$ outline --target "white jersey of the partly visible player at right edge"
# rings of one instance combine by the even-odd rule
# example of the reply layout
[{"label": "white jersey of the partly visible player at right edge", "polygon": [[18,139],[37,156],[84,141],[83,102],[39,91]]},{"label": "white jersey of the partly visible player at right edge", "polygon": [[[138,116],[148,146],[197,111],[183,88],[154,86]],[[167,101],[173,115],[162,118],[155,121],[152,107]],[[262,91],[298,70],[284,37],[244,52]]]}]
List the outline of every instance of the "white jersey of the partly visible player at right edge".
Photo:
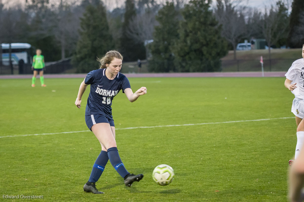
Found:
[{"label": "white jersey of the partly visible player at right edge", "polygon": [[298,59],[292,63],[288,72],[285,74],[286,78],[297,83],[293,91],[291,91],[296,98],[304,99],[304,59]]}]

